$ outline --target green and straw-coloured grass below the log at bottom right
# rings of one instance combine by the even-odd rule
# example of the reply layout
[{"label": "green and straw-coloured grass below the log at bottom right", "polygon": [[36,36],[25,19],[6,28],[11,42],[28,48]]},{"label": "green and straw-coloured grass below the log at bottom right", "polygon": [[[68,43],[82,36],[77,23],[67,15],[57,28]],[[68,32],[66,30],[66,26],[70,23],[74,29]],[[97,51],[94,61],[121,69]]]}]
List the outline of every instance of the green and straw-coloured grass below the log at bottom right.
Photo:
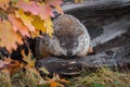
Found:
[{"label": "green and straw-coloured grass below the log at bottom right", "polygon": [[83,71],[69,80],[68,87],[130,87],[130,73],[101,67],[96,72]]}]

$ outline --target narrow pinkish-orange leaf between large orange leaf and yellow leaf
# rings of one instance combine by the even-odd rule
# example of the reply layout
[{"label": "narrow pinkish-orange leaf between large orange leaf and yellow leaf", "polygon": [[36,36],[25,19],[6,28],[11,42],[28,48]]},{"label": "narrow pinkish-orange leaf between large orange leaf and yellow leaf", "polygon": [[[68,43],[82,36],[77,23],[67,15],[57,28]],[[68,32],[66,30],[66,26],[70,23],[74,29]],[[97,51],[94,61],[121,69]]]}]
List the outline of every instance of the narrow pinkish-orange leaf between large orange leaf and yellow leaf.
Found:
[{"label": "narrow pinkish-orange leaf between large orange leaf and yellow leaf", "polygon": [[21,20],[18,20],[14,14],[9,14],[8,15],[9,21],[12,23],[13,29],[15,32],[20,32],[22,36],[29,36],[29,29],[22,23]]}]

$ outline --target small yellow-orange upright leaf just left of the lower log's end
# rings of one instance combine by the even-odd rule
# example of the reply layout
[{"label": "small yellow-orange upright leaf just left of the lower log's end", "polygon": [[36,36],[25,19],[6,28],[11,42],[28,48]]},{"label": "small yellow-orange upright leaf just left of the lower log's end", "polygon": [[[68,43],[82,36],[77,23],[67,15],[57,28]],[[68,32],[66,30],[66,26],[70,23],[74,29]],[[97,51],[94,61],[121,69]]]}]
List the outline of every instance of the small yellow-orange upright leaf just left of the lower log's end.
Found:
[{"label": "small yellow-orange upright leaf just left of the lower log's end", "polygon": [[35,67],[36,59],[32,59],[32,57],[31,57],[32,53],[30,52],[30,50],[29,50],[28,55],[26,55],[24,50],[22,50],[22,55],[23,55],[23,60],[28,63],[28,66]]}]

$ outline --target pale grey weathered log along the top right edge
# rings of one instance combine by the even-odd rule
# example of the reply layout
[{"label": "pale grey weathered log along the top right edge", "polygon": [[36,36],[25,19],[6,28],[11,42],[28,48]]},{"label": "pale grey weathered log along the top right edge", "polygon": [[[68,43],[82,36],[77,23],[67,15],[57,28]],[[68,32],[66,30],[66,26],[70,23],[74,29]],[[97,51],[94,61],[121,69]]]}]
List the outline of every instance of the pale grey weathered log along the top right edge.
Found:
[{"label": "pale grey weathered log along the top right edge", "polygon": [[130,0],[83,0],[80,3],[74,3],[74,0],[65,0],[62,9],[64,12],[79,11],[82,9],[95,11],[126,5],[130,5]]}]

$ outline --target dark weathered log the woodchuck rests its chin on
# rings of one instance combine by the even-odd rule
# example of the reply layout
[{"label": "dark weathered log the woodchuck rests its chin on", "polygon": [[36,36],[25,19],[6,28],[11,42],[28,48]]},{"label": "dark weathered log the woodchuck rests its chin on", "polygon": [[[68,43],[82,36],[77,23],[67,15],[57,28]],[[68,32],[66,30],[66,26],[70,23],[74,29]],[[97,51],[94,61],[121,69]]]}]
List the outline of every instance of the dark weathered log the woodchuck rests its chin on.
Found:
[{"label": "dark weathered log the woodchuck rests its chin on", "polygon": [[37,62],[38,67],[44,66],[50,73],[63,75],[78,74],[82,67],[126,66],[127,64],[130,64],[130,45],[113,48],[86,58],[65,60],[50,57]]}]

